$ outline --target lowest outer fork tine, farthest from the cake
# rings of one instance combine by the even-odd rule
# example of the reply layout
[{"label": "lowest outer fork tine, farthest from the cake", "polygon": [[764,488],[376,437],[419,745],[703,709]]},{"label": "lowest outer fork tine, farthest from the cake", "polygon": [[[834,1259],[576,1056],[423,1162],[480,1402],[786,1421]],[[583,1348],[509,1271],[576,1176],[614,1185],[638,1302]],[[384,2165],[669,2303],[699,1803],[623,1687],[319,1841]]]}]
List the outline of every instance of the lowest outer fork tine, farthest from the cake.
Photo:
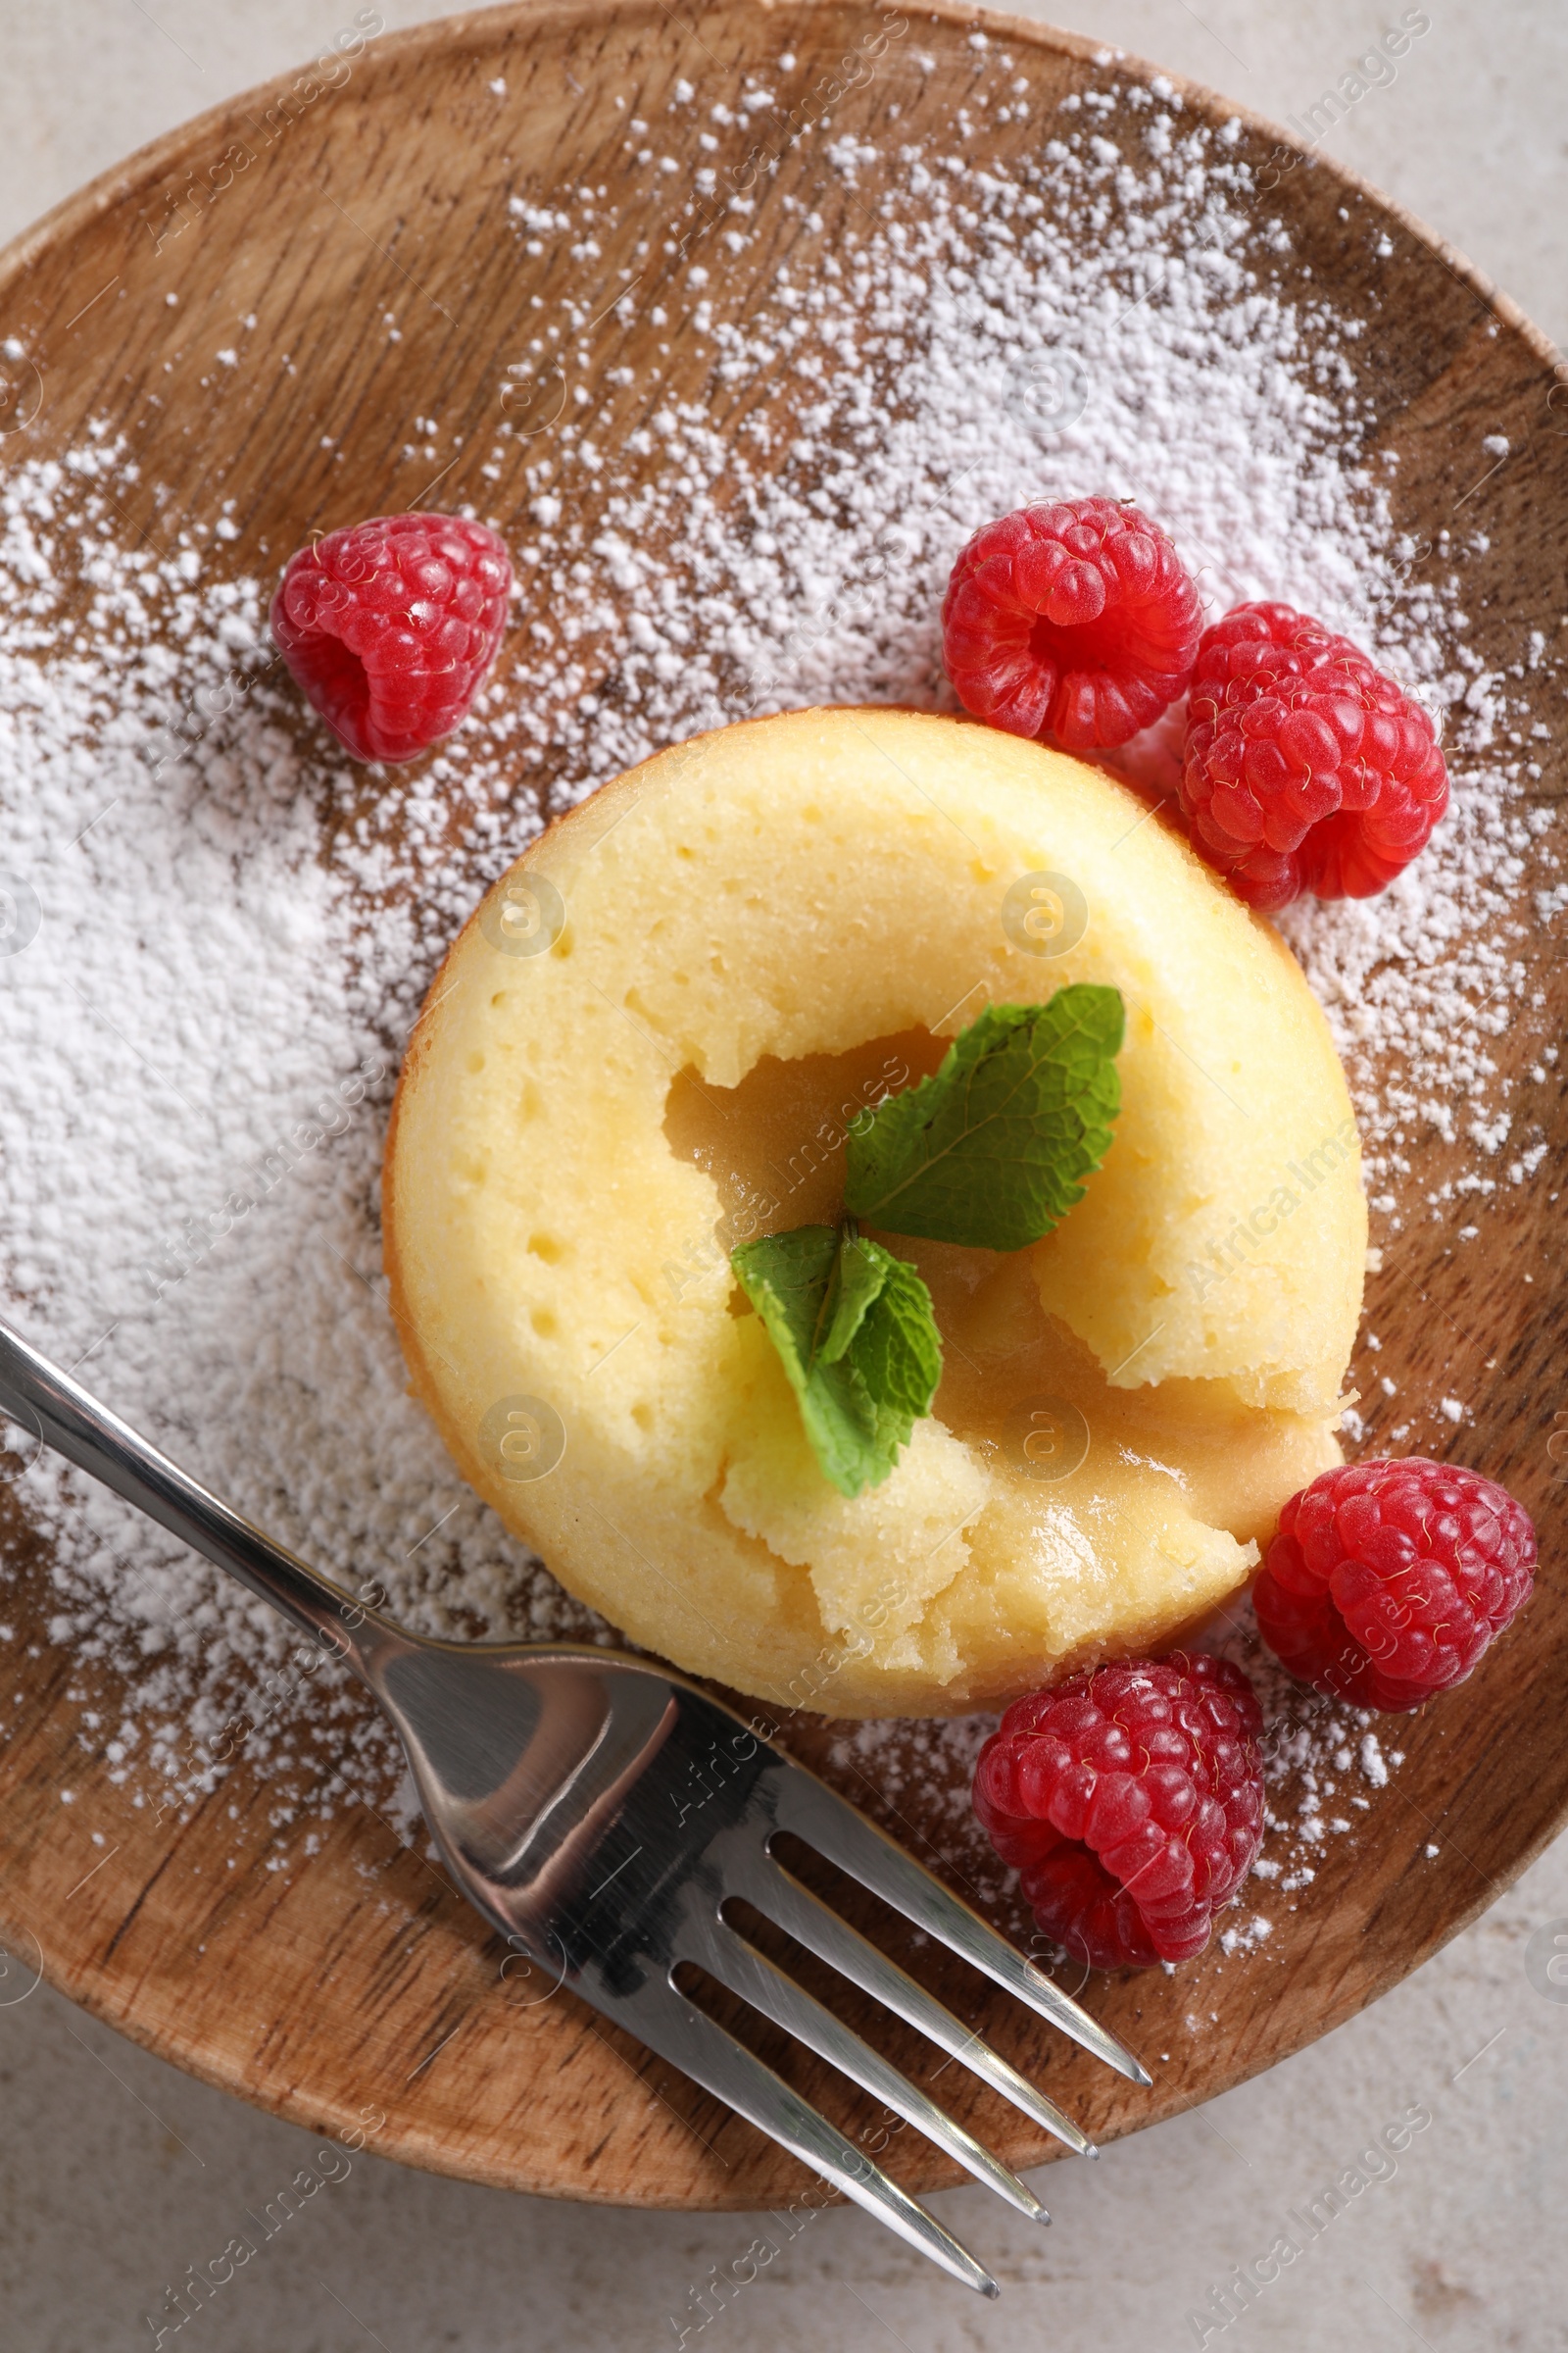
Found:
[{"label": "lowest outer fork tine, farthest from the cake", "polygon": [[879,2165],[846,2141],[825,2115],[792,2092],[755,2052],[686,2000],[672,1984],[651,1981],[637,1995],[599,2005],[616,2026],[625,2026],[661,2059],[691,2075],[726,2108],[766,2132],[790,2155],[809,2165],[877,2221],[896,2231],[919,2254],[929,2254],[952,2280],[976,2287],[983,2297],[999,2294],[990,2271],[973,2259],[952,2231],[900,2191]]}]

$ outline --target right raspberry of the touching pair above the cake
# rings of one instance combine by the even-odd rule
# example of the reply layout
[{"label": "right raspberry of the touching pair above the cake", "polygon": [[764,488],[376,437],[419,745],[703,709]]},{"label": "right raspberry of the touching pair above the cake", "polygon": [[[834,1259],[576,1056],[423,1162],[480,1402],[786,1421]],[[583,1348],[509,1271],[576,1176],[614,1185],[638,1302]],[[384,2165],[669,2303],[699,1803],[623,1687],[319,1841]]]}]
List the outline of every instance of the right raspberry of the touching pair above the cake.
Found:
[{"label": "right raspberry of the touching pair above the cake", "polygon": [[1427,713],[1291,605],[1237,605],[1204,631],[1180,800],[1248,906],[1371,899],[1448,807]]}]

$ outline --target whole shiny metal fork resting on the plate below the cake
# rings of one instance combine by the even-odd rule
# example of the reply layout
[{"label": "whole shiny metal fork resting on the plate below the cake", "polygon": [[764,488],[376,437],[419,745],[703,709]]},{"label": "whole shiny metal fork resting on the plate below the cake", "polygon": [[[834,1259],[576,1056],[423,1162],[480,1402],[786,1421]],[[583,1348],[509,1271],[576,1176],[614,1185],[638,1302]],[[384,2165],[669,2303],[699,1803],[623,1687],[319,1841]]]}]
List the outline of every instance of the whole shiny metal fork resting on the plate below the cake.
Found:
[{"label": "whole shiny metal fork resting on the plate below the cake", "polygon": [[433,1642],[364,1609],[207,1494],[0,1322],[0,1409],[336,1652],[393,1722],[463,1894],[512,1946],[736,2108],[954,2280],[997,2282],[914,2198],[675,1984],[682,1962],[994,2188],[1039,2198],[724,1918],[755,1906],[1070,2148],[1093,2144],[771,1852],[790,1831],[1133,2082],[1143,2066],[844,1798],[670,1668],[585,1645]]}]

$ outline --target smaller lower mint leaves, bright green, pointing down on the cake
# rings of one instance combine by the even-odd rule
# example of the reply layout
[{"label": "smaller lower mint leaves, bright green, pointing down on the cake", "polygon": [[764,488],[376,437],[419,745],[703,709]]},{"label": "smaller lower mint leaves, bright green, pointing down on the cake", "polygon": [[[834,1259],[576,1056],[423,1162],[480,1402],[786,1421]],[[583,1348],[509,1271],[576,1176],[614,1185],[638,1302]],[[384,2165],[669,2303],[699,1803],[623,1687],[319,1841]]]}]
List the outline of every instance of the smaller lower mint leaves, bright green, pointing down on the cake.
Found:
[{"label": "smaller lower mint leaves, bright green, pointing down on the cake", "polygon": [[729,1264],[778,1348],[823,1475],[839,1494],[879,1487],[943,1377],[926,1285],[837,1226],[764,1233]]}]

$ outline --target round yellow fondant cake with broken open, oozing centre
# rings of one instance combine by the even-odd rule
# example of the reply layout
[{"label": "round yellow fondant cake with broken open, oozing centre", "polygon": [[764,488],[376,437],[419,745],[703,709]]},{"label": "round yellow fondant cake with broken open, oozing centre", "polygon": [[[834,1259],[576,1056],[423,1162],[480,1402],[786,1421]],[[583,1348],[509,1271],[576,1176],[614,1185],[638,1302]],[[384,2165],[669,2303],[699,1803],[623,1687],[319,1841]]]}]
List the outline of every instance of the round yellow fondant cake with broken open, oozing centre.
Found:
[{"label": "round yellow fondant cake with broken open, oozing centre", "polygon": [[[844,1494],[729,1254],[835,1221],[865,1106],[1077,981],[1126,1007],[1110,1153],[1027,1249],[879,1238],[943,1379]],[[773,1704],[943,1715],[1248,1579],[1338,1461],[1366,1207],[1300,969],[1131,791],[806,711],[661,753],[496,885],[407,1056],[386,1247],[418,1395],[562,1584]]]}]

